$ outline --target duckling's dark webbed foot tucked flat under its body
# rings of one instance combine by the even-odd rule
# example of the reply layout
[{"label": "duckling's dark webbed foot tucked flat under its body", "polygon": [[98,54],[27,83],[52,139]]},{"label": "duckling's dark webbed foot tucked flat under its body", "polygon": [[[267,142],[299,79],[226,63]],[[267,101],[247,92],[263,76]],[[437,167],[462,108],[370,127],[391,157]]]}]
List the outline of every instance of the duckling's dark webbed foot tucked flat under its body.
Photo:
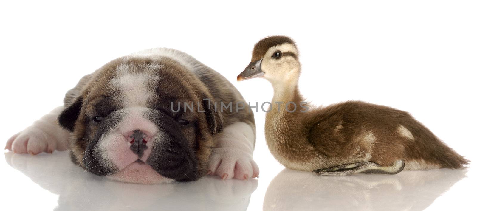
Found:
[{"label": "duckling's dark webbed foot tucked flat under its body", "polygon": [[397,160],[390,166],[381,166],[373,161],[344,164],[326,169],[316,169],[313,172],[325,176],[346,176],[357,173],[397,174],[404,169],[404,160]]}]

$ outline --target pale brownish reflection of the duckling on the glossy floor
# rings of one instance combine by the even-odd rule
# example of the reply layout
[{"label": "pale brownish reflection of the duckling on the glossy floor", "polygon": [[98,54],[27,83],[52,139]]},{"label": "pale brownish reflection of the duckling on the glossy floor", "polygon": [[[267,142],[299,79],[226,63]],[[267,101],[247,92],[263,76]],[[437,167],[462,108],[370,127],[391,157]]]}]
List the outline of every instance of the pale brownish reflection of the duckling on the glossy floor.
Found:
[{"label": "pale brownish reflection of the duckling on the glossy floor", "polygon": [[466,172],[438,169],[391,176],[316,177],[284,169],[270,182],[263,210],[424,210]]}]

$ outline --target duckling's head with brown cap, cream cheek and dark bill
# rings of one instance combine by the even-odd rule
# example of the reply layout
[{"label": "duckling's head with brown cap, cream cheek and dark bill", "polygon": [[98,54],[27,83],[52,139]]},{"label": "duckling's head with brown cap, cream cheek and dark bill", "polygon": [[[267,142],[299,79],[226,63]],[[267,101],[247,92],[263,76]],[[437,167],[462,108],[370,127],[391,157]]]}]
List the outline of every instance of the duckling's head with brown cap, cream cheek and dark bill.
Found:
[{"label": "duckling's head with brown cap, cream cheek and dark bill", "polygon": [[272,84],[298,79],[300,62],[295,42],[286,36],[266,37],[253,48],[252,61],[237,81],[265,78]]}]

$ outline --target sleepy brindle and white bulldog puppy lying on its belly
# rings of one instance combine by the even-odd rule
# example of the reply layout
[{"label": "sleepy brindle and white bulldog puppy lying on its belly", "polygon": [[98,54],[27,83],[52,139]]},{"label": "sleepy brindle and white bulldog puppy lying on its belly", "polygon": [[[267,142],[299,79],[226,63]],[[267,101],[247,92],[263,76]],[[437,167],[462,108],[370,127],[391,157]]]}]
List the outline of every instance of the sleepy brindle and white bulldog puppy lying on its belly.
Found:
[{"label": "sleepy brindle and white bulldog puppy lying on its belly", "polygon": [[157,48],[84,76],[64,106],[11,137],[14,153],[70,150],[86,171],[124,182],[258,177],[253,113],[222,75]]}]

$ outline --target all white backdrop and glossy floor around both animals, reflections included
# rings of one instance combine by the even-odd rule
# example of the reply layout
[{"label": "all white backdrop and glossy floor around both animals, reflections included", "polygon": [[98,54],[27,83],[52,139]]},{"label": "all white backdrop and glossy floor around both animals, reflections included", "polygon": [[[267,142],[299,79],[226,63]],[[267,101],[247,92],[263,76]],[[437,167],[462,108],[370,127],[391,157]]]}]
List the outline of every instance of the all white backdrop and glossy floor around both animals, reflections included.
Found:
[{"label": "all white backdrop and glossy floor around both animals, reflections included", "polygon": [[[235,79],[253,44],[280,34],[298,44],[307,101],[405,110],[475,161],[476,11],[475,0],[1,1],[0,147],[62,105],[83,75],[155,47],[194,56],[260,106],[270,83]],[[476,210],[475,165],[339,178],[283,170],[258,110],[258,180],[127,184],[84,172],[66,152],[9,152],[0,156],[0,210]]]}]

